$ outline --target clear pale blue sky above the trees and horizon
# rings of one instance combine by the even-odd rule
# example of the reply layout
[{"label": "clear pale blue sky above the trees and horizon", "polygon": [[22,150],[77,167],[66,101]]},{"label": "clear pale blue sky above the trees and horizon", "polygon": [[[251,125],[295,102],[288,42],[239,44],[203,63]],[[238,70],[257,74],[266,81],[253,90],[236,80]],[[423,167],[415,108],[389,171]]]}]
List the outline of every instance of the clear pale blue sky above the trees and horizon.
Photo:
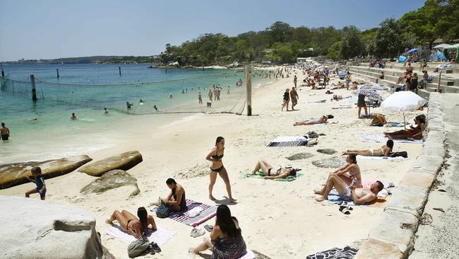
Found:
[{"label": "clear pale blue sky above the trees and horizon", "polygon": [[150,56],[204,33],[235,36],[275,21],[309,28],[378,27],[424,0],[0,0],[0,62]]}]

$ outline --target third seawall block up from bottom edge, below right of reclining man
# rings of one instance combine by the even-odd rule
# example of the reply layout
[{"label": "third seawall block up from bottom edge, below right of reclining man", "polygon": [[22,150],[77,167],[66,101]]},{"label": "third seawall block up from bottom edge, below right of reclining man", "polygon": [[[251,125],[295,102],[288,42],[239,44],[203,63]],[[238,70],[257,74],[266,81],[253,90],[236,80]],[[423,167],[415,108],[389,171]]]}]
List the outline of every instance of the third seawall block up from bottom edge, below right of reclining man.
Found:
[{"label": "third seawall block up from bottom edge, below right of reclining man", "polygon": [[398,185],[394,195],[389,200],[388,209],[403,209],[419,217],[427,202],[427,190],[420,188]]}]

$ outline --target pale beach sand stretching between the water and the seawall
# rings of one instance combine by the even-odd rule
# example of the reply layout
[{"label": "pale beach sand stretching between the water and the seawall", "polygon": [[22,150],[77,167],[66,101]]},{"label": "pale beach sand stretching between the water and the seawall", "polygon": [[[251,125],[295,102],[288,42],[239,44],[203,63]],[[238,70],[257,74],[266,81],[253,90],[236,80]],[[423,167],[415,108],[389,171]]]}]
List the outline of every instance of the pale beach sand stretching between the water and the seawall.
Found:
[{"label": "pale beach sand stretching between the water and the seawall", "polygon": [[[300,110],[281,113],[282,95],[286,87],[293,86],[292,77],[293,75],[288,79],[280,79],[265,87],[254,87],[252,110],[257,116],[161,115],[168,116],[169,122],[160,127],[148,125],[148,116],[154,119],[158,115],[142,116],[138,117],[135,127],[131,124],[129,132],[123,132],[126,142],[88,154],[98,160],[124,151],[140,151],[143,154],[143,163],[129,170],[138,180],[140,195],[129,199],[122,188],[101,195],[81,195],[79,190],[95,178],[73,172],[46,181],[47,200],[57,200],[88,209],[97,219],[97,231],[102,234],[103,245],[117,258],[127,258],[126,244],[106,234],[109,225],[105,224],[105,219],[114,209],[136,212],[137,207],[148,207],[148,203],[156,200],[159,195],[167,195],[169,189],[165,180],[169,177],[175,178],[184,186],[187,198],[213,204],[208,200],[207,174],[210,164],[205,161],[205,156],[213,148],[215,138],[223,136],[226,142],[223,161],[232,182],[233,195],[239,201],[237,205],[230,206],[230,209],[239,219],[242,234],[250,249],[271,258],[304,258],[311,253],[347,246],[366,238],[383,208],[354,207],[352,214],[345,215],[338,211],[338,205],[316,202],[314,198],[317,195],[314,195],[312,190],[323,183],[333,169],[317,168],[311,161],[331,157],[316,152],[316,149],[330,148],[342,152],[345,149],[378,148],[383,144],[363,143],[359,134],[364,131],[383,132],[388,128],[367,126],[369,120],[357,119],[357,108],[331,109],[346,103],[352,103],[352,107],[355,107],[356,100],[349,98],[338,102],[330,101],[332,95],[325,94],[326,90],[311,90],[307,87],[300,87],[298,91],[299,104],[296,108]],[[298,74],[299,84],[302,79],[304,76]],[[333,92],[343,97],[352,95],[344,89]],[[327,99],[327,102],[311,103],[320,99]],[[371,112],[383,113],[381,108],[371,109]],[[419,113],[422,112],[407,114],[407,120],[412,121],[412,117]],[[339,123],[292,126],[303,117],[318,117],[322,114],[333,114],[335,119],[331,121]],[[401,114],[389,114],[386,118],[388,121],[403,121]],[[316,146],[266,147],[270,140],[280,135],[304,135],[312,130],[326,134],[319,138]],[[384,180],[397,185],[421,148],[420,144],[395,143],[394,150],[407,151],[409,160],[358,161],[362,178]],[[286,156],[299,152],[309,152],[314,156],[298,161],[285,159]],[[293,182],[244,179],[243,173],[253,170],[256,161],[261,158],[273,165],[292,164],[303,168],[304,176]],[[194,166],[203,168],[201,174],[205,175],[183,179],[176,177],[180,171],[187,171]],[[34,185],[24,184],[0,190],[0,195],[23,196],[23,193],[31,188],[34,188]],[[217,199],[227,196],[221,178],[217,178],[213,195]],[[37,195],[34,198],[37,199]],[[192,238],[189,235],[191,226],[177,221],[156,217],[155,221],[166,229],[177,231],[177,235],[162,246],[161,254],[164,258],[193,258],[192,255],[188,255],[188,248],[198,245],[202,241],[202,236]],[[214,219],[206,222],[213,223]],[[210,254],[210,251],[206,253]],[[147,255],[145,258],[157,258],[157,255]]]}]

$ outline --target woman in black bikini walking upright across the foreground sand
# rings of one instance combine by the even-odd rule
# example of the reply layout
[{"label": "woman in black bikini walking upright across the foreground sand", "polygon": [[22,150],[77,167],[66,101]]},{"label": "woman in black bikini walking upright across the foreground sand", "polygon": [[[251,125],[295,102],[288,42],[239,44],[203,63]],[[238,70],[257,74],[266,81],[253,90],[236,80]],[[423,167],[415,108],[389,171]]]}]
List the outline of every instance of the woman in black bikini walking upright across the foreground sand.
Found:
[{"label": "woman in black bikini walking upright across the foreground sand", "polygon": [[231,194],[231,185],[229,184],[228,173],[223,166],[222,158],[225,151],[225,139],[223,137],[217,137],[215,141],[215,147],[210,151],[205,159],[212,162],[210,166],[210,183],[209,183],[209,199],[216,200],[212,195],[213,185],[215,185],[215,180],[217,180],[217,173],[223,179],[226,185],[226,190],[228,192],[228,198],[230,203],[236,203],[236,200],[233,199]]}]

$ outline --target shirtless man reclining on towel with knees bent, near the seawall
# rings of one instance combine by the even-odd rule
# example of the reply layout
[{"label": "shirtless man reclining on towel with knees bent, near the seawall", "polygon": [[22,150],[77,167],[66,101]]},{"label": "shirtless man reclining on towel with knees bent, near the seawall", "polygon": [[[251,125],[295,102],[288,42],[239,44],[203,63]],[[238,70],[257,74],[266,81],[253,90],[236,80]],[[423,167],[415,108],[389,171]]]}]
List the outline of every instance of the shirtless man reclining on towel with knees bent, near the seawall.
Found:
[{"label": "shirtless man reclining on towel with knees bent, near the seawall", "polygon": [[384,185],[377,180],[371,184],[371,188],[355,188],[354,185],[347,185],[339,176],[330,175],[326,187],[323,195],[318,197],[316,201],[322,202],[328,200],[328,194],[331,189],[335,188],[342,200],[352,200],[357,205],[374,202],[378,198],[378,192],[383,190]]}]

